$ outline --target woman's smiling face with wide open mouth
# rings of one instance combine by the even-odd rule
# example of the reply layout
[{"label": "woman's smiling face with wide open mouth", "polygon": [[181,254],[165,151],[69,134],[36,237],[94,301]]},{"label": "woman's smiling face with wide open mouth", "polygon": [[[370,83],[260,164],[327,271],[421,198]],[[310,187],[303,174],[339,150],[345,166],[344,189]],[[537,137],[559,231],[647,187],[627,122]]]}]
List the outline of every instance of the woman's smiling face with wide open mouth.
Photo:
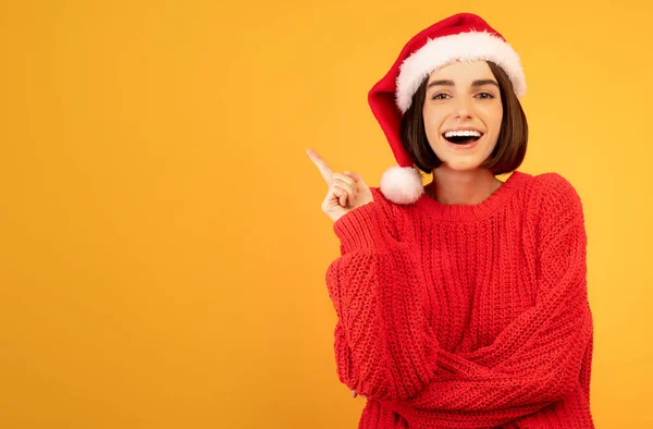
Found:
[{"label": "woman's smiling face with wide open mouth", "polygon": [[477,169],[501,131],[498,83],[485,61],[454,62],[429,76],[423,111],[429,144],[452,170]]}]

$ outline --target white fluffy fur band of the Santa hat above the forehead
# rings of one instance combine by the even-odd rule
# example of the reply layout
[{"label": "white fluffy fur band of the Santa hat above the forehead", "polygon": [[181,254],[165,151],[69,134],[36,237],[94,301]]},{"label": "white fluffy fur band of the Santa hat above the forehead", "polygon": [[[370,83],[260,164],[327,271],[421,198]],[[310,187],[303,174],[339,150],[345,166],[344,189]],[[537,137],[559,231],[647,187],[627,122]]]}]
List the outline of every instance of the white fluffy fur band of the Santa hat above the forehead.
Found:
[{"label": "white fluffy fur band of the Santa hat above the forehead", "polygon": [[402,113],[410,107],[423,79],[454,61],[492,61],[506,72],[517,98],[526,95],[526,77],[517,52],[491,33],[472,30],[429,39],[402,63],[396,79],[396,102]]}]

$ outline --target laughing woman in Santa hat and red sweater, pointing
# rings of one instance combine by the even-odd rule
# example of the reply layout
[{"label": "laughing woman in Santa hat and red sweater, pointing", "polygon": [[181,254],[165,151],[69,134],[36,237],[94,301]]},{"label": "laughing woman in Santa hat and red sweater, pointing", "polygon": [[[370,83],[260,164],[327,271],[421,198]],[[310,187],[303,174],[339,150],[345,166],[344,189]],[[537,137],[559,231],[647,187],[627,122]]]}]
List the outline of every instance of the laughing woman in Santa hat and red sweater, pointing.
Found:
[{"label": "laughing woman in Santa hat and red sweater, pointing", "polygon": [[593,428],[582,204],[559,174],[516,171],[525,90],[505,39],[454,15],[369,94],[399,163],[379,188],[308,150],[341,240],[326,284],[359,428]]}]

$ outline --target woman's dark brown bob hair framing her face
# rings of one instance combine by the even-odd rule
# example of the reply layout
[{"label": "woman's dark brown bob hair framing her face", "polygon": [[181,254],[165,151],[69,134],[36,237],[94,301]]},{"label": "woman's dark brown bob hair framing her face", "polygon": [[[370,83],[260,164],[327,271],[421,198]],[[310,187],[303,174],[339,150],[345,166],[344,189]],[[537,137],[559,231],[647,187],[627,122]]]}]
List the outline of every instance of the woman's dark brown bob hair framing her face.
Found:
[{"label": "woman's dark brown bob hair framing her face", "polygon": [[[528,145],[528,122],[521,109],[521,103],[515,96],[509,77],[495,63],[488,61],[488,65],[498,83],[503,105],[503,120],[494,150],[479,167],[492,171],[494,175],[498,175],[510,173],[521,166]],[[424,173],[430,174],[442,164],[442,161],[429,145],[424,132],[422,109],[428,82],[429,78],[427,77],[412,96],[412,102],[402,118],[401,133],[402,143],[415,166]]]}]

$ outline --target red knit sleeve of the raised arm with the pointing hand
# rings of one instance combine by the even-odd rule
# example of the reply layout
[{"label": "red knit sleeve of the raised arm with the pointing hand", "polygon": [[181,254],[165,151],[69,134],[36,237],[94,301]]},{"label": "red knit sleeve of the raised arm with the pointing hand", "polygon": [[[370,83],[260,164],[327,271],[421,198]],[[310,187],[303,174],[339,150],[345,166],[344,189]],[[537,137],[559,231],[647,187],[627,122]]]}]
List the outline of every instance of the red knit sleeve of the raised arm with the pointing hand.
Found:
[{"label": "red knit sleeve of the raised arm with the pointing hand", "polygon": [[334,223],[341,256],[326,285],[337,373],[361,395],[407,399],[433,380],[438,342],[424,316],[419,250],[398,240],[390,203],[374,194]]}]

